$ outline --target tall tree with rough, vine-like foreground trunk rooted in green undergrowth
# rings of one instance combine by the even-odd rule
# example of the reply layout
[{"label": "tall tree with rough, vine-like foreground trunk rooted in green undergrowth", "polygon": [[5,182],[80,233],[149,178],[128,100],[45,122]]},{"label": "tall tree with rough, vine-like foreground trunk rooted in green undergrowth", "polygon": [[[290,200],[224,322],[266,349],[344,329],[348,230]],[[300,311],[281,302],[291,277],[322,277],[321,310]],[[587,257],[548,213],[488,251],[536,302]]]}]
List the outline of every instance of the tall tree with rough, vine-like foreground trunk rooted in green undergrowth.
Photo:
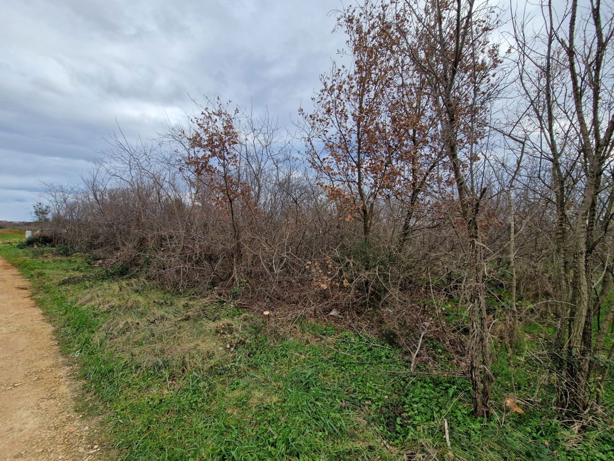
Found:
[{"label": "tall tree with rough, vine-like foreground trunk rooted in green undergrowth", "polygon": [[459,217],[468,239],[464,298],[470,320],[469,378],[473,411],[488,416],[492,388],[490,337],[486,315],[484,244],[480,210],[486,187],[478,176],[492,101],[497,93],[499,47],[491,33],[499,24],[487,4],[473,0],[403,0],[394,16],[403,52],[423,76],[439,135],[456,188]]}]

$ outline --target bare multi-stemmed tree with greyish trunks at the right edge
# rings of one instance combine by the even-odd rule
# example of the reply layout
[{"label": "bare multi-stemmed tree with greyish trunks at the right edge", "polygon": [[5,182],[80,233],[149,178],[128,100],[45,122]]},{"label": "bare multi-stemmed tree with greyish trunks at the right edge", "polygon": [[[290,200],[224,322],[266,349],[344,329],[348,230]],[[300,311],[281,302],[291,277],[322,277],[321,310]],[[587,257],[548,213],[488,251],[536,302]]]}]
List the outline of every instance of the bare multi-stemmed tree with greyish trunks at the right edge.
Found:
[{"label": "bare multi-stemmed tree with greyish trunks at the right edge", "polygon": [[545,140],[535,150],[550,165],[551,181],[544,182],[556,204],[558,403],[583,412],[591,401],[595,347],[601,347],[593,339],[593,315],[605,291],[595,288],[607,286],[612,264],[597,261],[594,251],[612,219],[614,15],[600,0],[586,9],[572,0],[563,14],[548,0],[541,17],[534,37],[516,20],[514,38],[522,89]]}]

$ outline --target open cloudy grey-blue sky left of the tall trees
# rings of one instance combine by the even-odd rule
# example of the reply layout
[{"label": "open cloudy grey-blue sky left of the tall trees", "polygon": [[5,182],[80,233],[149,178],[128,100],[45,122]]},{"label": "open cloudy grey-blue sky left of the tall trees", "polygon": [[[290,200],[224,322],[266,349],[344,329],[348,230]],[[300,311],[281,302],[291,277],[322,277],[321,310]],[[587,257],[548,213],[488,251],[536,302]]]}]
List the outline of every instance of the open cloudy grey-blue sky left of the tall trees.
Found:
[{"label": "open cloudy grey-blue sky left of the tall trees", "polygon": [[286,125],[344,45],[340,0],[0,0],[0,220],[71,183],[117,125],[152,139],[220,96]]}]

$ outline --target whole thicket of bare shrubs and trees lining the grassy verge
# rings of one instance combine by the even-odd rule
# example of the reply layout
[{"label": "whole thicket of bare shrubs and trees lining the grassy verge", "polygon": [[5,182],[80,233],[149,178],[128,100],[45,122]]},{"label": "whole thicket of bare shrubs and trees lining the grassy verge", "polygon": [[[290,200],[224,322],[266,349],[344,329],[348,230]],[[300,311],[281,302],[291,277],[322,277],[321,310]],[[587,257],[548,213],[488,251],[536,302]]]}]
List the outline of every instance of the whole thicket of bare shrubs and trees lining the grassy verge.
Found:
[{"label": "whole thicket of bare shrubs and trees lining the grassy verge", "polygon": [[305,148],[206,100],[157,143],[115,136],[84,184],[49,184],[55,238],[279,317],[406,317],[416,353],[454,299],[479,416],[492,336],[513,350],[537,320],[557,408],[594,412],[614,358],[612,6],[375,1],[337,27],[346,65],[299,111]]}]

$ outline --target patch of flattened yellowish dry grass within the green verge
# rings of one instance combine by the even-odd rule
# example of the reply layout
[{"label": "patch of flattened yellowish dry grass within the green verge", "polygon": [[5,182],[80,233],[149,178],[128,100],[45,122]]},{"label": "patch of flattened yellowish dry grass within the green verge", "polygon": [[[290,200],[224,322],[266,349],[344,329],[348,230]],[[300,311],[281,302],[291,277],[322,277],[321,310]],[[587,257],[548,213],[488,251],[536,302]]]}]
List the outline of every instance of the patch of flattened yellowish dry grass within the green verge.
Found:
[{"label": "patch of flattened yellowish dry grass within the green verge", "polygon": [[177,300],[136,279],[99,286],[79,304],[113,311],[94,341],[142,369],[165,369],[171,376],[203,371],[227,358],[246,341],[253,323],[249,313],[188,297]]}]

